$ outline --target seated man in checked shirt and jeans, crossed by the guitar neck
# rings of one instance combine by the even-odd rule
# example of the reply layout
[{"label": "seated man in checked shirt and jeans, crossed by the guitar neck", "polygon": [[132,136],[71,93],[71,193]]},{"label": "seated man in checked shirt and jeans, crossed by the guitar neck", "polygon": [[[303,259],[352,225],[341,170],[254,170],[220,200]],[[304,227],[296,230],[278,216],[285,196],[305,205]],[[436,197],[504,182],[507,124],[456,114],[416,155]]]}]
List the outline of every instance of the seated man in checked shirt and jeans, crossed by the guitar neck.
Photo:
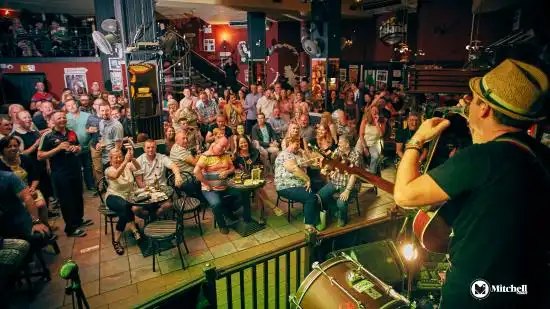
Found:
[{"label": "seated man in checked shirt and jeans, crossed by the guitar neck", "polygon": [[[353,166],[362,167],[362,155],[357,149],[351,147],[351,137],[347,135],[340,136],[336,157],[345,158]],[[323,205],[328,206],[332,213],[338,218],[338,226],[346,225],[348,219],[348,203],[357,196],[361,183],[357,181],[355,175],[348,175],[340,171],[334,171],[328,175],[328,183],[319,190],[319,196]],[[333,196],[338,193],[337,199]]]}]

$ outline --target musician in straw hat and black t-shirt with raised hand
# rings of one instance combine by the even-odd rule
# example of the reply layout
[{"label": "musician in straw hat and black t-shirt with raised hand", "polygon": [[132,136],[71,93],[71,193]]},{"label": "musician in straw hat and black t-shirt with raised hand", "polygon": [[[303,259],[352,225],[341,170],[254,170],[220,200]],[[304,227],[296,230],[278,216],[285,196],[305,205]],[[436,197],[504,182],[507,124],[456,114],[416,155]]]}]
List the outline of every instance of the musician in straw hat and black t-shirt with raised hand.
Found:
[{"label": "musician in straw hat and black t-shirt with raised hand", "polygon": [[[470,80],[470,89],[474,97],[466,114],[474,145],[419,175],[423,145],[450,125],[441,118],[422,123],[405,146],[395,202],[406,208],[446,202],[440,213],[452,227],[451,268],[440,308],[550,308],[549,242],[533,243],[549,235],[549,210],[541,201],[550,188],[550,155],[526,134],[544,118],[540,100],[548,78],[532,65],[507,59]],[[528,293],[476,299],[477,279],[526,284]]]}]

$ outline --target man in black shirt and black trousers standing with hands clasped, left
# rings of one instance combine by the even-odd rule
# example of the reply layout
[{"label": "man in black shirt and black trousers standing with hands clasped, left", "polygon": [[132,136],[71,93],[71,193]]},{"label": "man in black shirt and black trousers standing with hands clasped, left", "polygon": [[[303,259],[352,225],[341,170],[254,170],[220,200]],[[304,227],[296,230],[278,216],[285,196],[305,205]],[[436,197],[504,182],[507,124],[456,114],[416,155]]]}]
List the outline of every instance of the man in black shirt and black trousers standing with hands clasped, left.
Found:
[{"label": "man in black shirt and black trousers standing with hands clasped, left", "polygon": [[65,221],[65,233],[69,237],[83,237],[86,232],[81,227],[93,224],[84,220],[84,200],[82,198],[82,175],[78,153],[80,144],[74,131],[67,129],[64,112],[52,116],[54,127],[44,134],[38,148],[38,159],[49,160],[51,178],[57,188],[61,214]]}]

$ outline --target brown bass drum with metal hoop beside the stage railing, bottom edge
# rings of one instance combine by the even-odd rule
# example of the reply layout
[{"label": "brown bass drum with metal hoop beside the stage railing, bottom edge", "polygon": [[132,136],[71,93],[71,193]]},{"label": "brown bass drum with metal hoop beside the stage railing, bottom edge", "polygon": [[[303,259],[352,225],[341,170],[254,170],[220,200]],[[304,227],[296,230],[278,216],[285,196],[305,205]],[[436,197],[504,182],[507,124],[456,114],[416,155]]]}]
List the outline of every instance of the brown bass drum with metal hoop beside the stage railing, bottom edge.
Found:
[{"label": "brown bass drum with metal hoop beside the stage railing, bottom edge", "polygon": [[293,309],[402,309],[403,300],[386,295],[379,279],[363,271],[357,263],[338,256],[314,266],[290,299]]}]

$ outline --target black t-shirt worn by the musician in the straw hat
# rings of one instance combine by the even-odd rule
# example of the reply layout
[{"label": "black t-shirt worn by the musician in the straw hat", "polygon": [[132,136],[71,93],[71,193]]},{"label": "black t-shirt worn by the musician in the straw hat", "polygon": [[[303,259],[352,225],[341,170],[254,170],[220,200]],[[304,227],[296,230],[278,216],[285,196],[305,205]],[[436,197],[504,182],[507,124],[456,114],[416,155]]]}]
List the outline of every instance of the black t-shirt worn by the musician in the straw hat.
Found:
[{"label": "black t-shirt worn by the musician in the straw hat", "polygon": [[[533,150],[550,162],[542,148]],[[546,308],[538,304],[550,291],[549,242],[539,239],[550,235],[550,208],[543,199],[550,182],[534,156],[492,141],[458,151],[428,174],[450,197],[440,212],[453,227],[441,308]],[[493,285],[527,284],[528,295],[490,293],[476,300],[470,289],[479,278]]]}]

